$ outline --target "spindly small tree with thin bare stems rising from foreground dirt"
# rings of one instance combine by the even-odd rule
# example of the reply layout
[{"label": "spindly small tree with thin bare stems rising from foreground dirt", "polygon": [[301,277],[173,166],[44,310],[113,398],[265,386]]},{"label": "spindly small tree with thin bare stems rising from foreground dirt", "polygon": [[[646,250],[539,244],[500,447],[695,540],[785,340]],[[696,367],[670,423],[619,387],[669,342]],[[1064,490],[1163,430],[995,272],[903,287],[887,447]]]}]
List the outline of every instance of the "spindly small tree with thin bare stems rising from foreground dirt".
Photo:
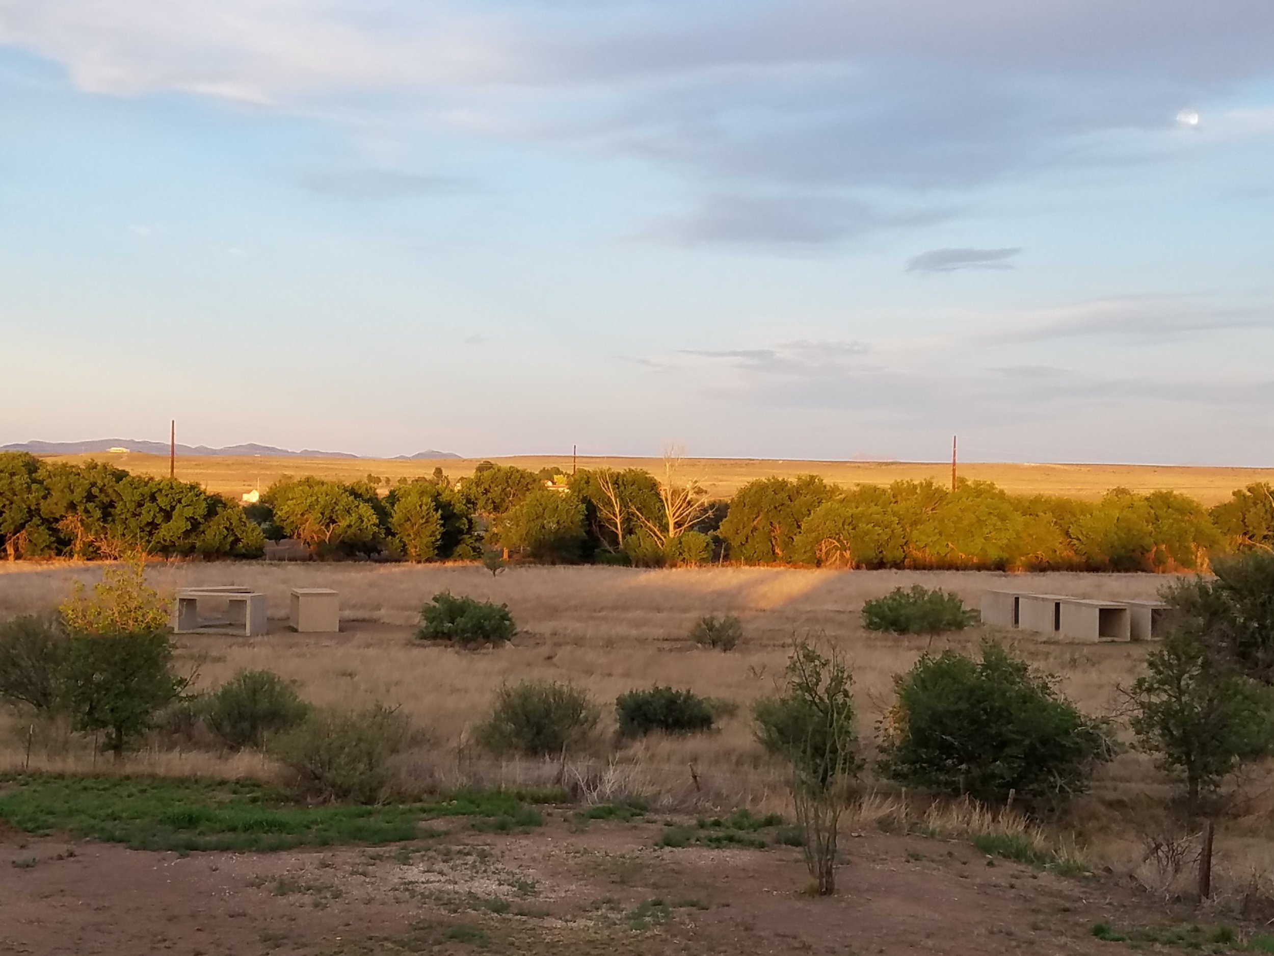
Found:
[{"label": "spindly small tree with thin bare stems rising from foreground dirt", "polygon": [[805,865],[818,896],[836,892],[836,848],[848,789],[861,767],[854,677],[834,653],[798,644],[784,693],[753,709],[761,744],[791,765],[796,822],[805,835]]}]

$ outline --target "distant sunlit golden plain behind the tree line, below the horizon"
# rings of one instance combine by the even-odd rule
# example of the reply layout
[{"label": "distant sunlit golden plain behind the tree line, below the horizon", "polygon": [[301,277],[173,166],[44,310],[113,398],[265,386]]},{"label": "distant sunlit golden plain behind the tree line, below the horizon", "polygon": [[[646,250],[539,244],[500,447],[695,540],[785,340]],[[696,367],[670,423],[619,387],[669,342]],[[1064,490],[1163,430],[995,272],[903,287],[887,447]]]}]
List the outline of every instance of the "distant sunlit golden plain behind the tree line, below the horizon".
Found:
[{"label": "distant sunlit golden plain behind the tree line, below the horizon", "polygon": [[[136,453],[90,455],[55,455],[52,461],[80,464],[87,460],[110,461],[113,465],[149,475],[167,475],[168,459],[163,455]],[[256,458],[209,456],[180,458],[177,477],[199,482],[208,491],[238,497],[246,491],[261,491],[283,475],[316,475],[318,478],[354,481],[375,474],[397,481],[433,474],[442,468],[452,479],[473,474],[483,459],[418,459],[385,460],[363,458]],[[571,470],[571,455],[522,455],[490,459],[499,464],[520,465],[539,470],[562,468]],[[818,474],[842,486],[888,484],[899,479],[933,478],[950,482],[950,463],[915,461],[801,461],[772,459],[697,458],[685,459],[683,472],[699,481],[715,497],[729,497],[755,478],[794,478]],[[645,468],[659,472],[662,459],[581,456],[580,468]],[[1274,482],[1274,468],[1187,468],[1173,465],[1084,465],[1084,464],[989,464],[959,465],[959,474],[978,481],[995,482],[1013,493],[1064,495],[1075,498],[1098,498],[1115,487],[1136,492],[1177,491],[1205,505],[1229,497],[1235,488],[1251,482]]]}]

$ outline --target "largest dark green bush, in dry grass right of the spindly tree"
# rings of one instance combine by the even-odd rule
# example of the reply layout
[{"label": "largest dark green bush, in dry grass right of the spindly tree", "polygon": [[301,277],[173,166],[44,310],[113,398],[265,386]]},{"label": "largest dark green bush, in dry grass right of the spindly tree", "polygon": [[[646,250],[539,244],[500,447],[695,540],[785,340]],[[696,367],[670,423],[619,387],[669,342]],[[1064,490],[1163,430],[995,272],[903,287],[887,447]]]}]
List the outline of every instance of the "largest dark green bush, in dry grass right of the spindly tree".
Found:
[{"label": "largest dark green bush, in dry grass right of the spindly tree", "polygon": [[903,784],[1003,803],[1087,789],[1108,760],[1106,727],[1057,693],[1055,681],[995,642],[980,660],[925,655],[894,679],[880,769]]}]

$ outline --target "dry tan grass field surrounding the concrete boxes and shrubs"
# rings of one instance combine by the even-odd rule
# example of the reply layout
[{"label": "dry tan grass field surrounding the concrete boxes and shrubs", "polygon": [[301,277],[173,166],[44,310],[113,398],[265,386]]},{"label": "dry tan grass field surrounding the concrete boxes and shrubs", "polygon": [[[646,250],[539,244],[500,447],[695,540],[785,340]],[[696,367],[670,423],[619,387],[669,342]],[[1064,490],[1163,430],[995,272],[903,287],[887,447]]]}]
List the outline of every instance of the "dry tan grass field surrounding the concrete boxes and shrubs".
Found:
[{"label": "dry tan grass field surrounding the concrete boxes and shrubs", "polygon": [[[93,583],[101,566],[83,563],[0,565],[0,618],[48,609],[74,580]],[[595,797],[642,795],[656,806],[750,806],[786,809],[786,780],[753,741],[749,707],[773,692],[791,642],[812,639],[838,649],[852,664],[862,735],[889,706],[896,674],[926,650],[976,650],[986,636],[1012,642],[1026,659],[1056,674],[1063,691],[1087,713],[1119,719],[1120,686],[1139,673],[1147,645],[1065,644],[977,626],[934,640],[866,631],[865,599],[896,586],[921,583],[959,594],[977,605],[987,589],[1046,591],[1092,598],[1152,598],[1173,579],[1166,575],[1050,572],[1010,575],[962,571],[831,571],[761,567],[640,570],[620,567],[513,567],[493,576],[474,565],[352,565],[265,562],[157,562],[150,583],[177,588],[238,584],[268,595],[271,632],[255,639],[182,636],[181,667],[196,670],[196,687],[215,687],[241,668],[268,668],[296,682],[320,705],[396,705],[427,734],[413,756],[410,779],[420,785],[552,783],[563,775]],[[288,594],[297,586],[340,593],[341,631],[297,635],[285,621]],[[413,639],[420,605],[451,590],[507,603],[520,634],[511,646],[457,651]],[[731,653],[701,649],[687,640],[706,613],[743,618],[745,640]],[[711,734],[652,737],[609,750],[600,741],[591,757],[569,770],[553,762],[497,762],[471,743],[475,725],[502,683],[525,678],[569,681],[585,687],[604,709],[634,687],[655,683],[691,687],[733,701],[738,711]],[[604,732],[614,728],[608,711]],[[10,725],[0,744],[0,767],[27,761],[25,728]],[[1127,739],[1126,727],[1122,737]],[[84,750],[42,748],[32,766],[83,770]],[[96,762],[94,762],[96,766]],[[148,772],[268,775],[259,755],[153,748],[127,765]],[[101,769],[101,767],[98,767]],[[1227,821],[1219,872],[1238,886],[1274,863],[1269,778],[1246,781],[1246,803]],[[1147,840],[1167,829],[1168,789],[1144,755],[1121,753],[1105,767],[1094,792],[1073,811],[1069,826],[1091,855],[1133,872],[1149,865]],[[885,788],[882,813],[897,807]],[[860,816],[870,816],[870,808]]]}]

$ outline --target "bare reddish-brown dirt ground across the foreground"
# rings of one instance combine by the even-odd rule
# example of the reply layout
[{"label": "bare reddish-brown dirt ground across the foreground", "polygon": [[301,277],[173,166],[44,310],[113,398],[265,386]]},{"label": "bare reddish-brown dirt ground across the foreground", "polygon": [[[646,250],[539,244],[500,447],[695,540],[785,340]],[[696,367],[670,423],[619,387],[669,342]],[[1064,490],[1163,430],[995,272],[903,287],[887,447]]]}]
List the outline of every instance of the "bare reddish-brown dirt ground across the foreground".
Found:
[{"label": "bare reddish-brown dirt ground across the foreground", "polygon": [[1096,922],[1164,922],[1108,878],[992,864],[963,843],[842,837],[841,892],[815,899],[799,849],[657,848],[661,820],[549,817],[521,835],[457,822],[410,844],[259,855],[8,831],[0,952],[1045,955],[1122,951]]}]

